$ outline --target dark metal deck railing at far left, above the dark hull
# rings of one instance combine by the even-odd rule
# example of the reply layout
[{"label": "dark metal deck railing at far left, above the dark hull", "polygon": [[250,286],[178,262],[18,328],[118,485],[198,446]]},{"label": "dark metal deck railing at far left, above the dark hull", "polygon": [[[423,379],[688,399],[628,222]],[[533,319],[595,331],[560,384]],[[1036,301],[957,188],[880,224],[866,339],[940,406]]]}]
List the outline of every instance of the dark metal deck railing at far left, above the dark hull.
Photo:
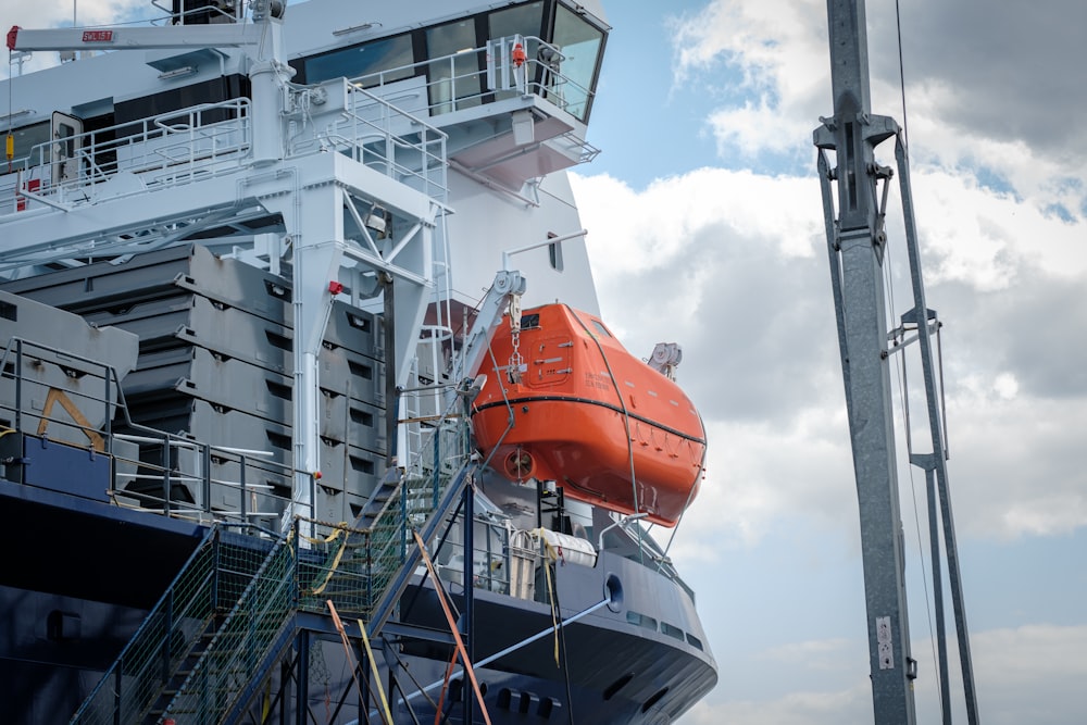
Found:
[{"label": "dark metal deck railing at far left, above the dark hull", "polygon": [[295,472],[272,452],[140,425],[111,365],[17,336],[0,354],[0,417],[8,430],[109,454],[105,495],[117,505],[274,528],[290,502]]}]

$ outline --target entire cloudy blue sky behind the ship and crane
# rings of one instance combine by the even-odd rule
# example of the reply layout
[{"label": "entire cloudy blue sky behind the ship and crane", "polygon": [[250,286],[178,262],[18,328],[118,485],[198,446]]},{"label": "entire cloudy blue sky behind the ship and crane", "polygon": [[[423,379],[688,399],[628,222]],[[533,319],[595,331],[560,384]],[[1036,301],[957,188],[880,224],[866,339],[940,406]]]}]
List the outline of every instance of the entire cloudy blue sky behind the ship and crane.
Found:
[{"label": "entire cloudy blue sky behind the ship and crane", "polygon": [[[720,684],[682,725],[871,722],[857,493],[811,142],[832,113],[825,4],[603,2],[614,30],[589,129],[602,153],[574,176],[601,312],[632,351],[683,346],[679,383],[710,440],[670,554],[698,593]],[[80,24],[137,4],[85,0]],[[66,3],[20,5],[0,0],[4,27],[71,20]],[[980,715],[1083,723],[1087,4],[902,3],[904,113],[895,4],[870,0],[867,17],[873,111],[908,123],[927,301],[944,322]],[[889,143],[878,157],[894,162]],[[912,304],[898,204],[895,184],[896,316]],[[911,430],[927,452],[923,405],[911,389]],[[919,722],[938,722],[924,477],[902,464],[901,416],[899,430]]]}]

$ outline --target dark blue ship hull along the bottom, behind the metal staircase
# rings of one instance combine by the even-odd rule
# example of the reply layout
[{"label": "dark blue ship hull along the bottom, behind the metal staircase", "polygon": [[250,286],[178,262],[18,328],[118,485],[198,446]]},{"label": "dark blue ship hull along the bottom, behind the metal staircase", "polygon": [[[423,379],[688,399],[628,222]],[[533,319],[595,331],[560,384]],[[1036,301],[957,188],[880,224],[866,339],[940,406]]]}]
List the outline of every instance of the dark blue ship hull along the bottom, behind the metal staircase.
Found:
[{"label": "dark blue ship hull along the bottom, behind the metal staircase", "polygon": [[[9,522],[7,550],[18,552],[0,575],[0,712],[13,725],[66,722],[205,528],[5,480],[0,480],[0,503]],[[261,545],[254,539],[254,546]],[[608,598],[609,579],[612,605],[563,628],[559,664],[549,633],[479,667],[476,677],[492,723],[667,723],[715,685],[716,666],[702,643],[694,604],[674,582],[607,552],[596,567],[569,564],[555,571],[564,617],[599,605]],[[461,588],[447,586],[463,609]],[[409,585],[399,609],[393,624],[448,637],[428,584]],[[467,632],[476,662],[552,626],[549,604],[482,589],[475,590],[474,611]],[[282,666],[273,668],[250,702],[252,720],[304,722],[300,699],[321,722],[360,720],[358,689],[327,617],[300,617],[297,632]],[[386,687],[392,662],[402,688],[390,696],[395,720],[433,722],[435,705],[428,698],[437,701],[441,695],[452,648],[401,636],[401,628],[389,632],[385,643],[391,652],[383,657],[378,650],[376,658]],[[302,651],[307,666],[291,674]],[[398,660],[407,668],[397,666]],[[305,673],[304,688],[298,672]],[[436,683],[427,697],[414,695]],[[365,680],[363,687],[372,685]],[[445,687],[445,722],[464,722],[464,697],[474,696],[457,671]],[[176,720],[187,722],[180,715]],[[473,722],[484,722],[478,705]]]}]

